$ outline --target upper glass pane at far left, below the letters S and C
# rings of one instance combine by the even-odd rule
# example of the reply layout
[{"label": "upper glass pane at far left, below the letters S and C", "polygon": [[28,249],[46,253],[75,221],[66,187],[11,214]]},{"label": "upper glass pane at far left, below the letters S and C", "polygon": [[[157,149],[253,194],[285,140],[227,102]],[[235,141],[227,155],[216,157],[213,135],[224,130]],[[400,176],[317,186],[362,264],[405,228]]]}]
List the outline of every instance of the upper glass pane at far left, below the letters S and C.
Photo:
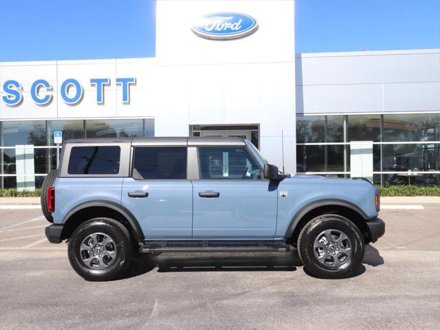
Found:
[{"label": "upper glass pane at far left, below the letters S and C", "polygon": [[19,122],[1,122],[1,145],[15,146],[17,144],[46,146],[45,121],[23,120]]}]

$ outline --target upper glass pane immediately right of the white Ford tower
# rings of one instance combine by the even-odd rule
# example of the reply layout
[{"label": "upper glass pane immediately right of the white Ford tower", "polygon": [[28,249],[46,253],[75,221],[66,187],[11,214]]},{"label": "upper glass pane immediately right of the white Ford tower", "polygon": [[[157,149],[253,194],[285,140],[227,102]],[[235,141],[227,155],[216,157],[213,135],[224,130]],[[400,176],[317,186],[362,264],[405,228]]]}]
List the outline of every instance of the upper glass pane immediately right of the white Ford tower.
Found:
[{"label": "upper glass pane immediately right of the white Ford tower", "polygon": [[296,142],[325,142],[324,133],[325,115],[298,115],[296,117]]}]

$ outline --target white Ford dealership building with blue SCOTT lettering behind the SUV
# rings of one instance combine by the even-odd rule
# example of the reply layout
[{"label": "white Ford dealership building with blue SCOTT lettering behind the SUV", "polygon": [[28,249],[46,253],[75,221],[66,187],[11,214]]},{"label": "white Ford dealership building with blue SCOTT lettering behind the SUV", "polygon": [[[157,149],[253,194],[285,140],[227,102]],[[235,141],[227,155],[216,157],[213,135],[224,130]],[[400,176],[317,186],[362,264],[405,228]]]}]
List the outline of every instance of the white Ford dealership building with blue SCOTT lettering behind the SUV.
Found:
[{"label": "white Ford dealership building with blue SCOTT lettering behind the SUV", "polygon": [[440,50],[296,54],[294,1],[157,1],[155,57],[0,63],[1,188],[63,139],[239,136],[289,173],[440,185]]}]

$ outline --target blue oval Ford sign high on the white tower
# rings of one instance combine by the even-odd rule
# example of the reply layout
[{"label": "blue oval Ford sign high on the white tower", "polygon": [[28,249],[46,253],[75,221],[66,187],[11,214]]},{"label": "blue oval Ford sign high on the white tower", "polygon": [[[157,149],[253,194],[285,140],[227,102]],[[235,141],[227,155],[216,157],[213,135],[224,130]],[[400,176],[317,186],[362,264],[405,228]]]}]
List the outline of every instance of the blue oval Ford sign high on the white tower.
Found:
[{"label": "blue oval Ford sign high on the white tower", "polygon": [[192,32],[207,39],[236,39],[247,36],[259,28],[253,17],[239,12],[216,12],[200,17]]}]

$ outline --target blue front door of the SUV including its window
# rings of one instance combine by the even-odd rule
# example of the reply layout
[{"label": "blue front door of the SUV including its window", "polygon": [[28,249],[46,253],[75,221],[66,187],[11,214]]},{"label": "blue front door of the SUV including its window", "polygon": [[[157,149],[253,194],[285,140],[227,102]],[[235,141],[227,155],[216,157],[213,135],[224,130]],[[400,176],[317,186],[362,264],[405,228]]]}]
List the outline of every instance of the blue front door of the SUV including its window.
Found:
[{"label": "blue front door of the SUV including its window", "polygon": [[273,239],[277,192],[245,146],[198,148],[193,239]]}]

